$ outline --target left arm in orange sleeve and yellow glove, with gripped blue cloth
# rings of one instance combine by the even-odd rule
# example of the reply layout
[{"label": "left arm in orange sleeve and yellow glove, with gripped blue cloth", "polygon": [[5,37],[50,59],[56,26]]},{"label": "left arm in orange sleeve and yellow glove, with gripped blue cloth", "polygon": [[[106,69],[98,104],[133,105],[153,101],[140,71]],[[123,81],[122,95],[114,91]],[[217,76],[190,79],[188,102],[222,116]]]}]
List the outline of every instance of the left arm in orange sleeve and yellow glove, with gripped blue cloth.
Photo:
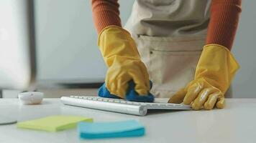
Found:
[{"label": "left arm in orange sleeve and yellow glove, with gripped blue cloth", "polygon": [[[92,0],[93,21],[99,34],[98,46],[108,71],[100,97],[152,102],[150,80],[137,46],[122,29],[117,0]],[[147,95],[147,96],[139,96]]]}]

